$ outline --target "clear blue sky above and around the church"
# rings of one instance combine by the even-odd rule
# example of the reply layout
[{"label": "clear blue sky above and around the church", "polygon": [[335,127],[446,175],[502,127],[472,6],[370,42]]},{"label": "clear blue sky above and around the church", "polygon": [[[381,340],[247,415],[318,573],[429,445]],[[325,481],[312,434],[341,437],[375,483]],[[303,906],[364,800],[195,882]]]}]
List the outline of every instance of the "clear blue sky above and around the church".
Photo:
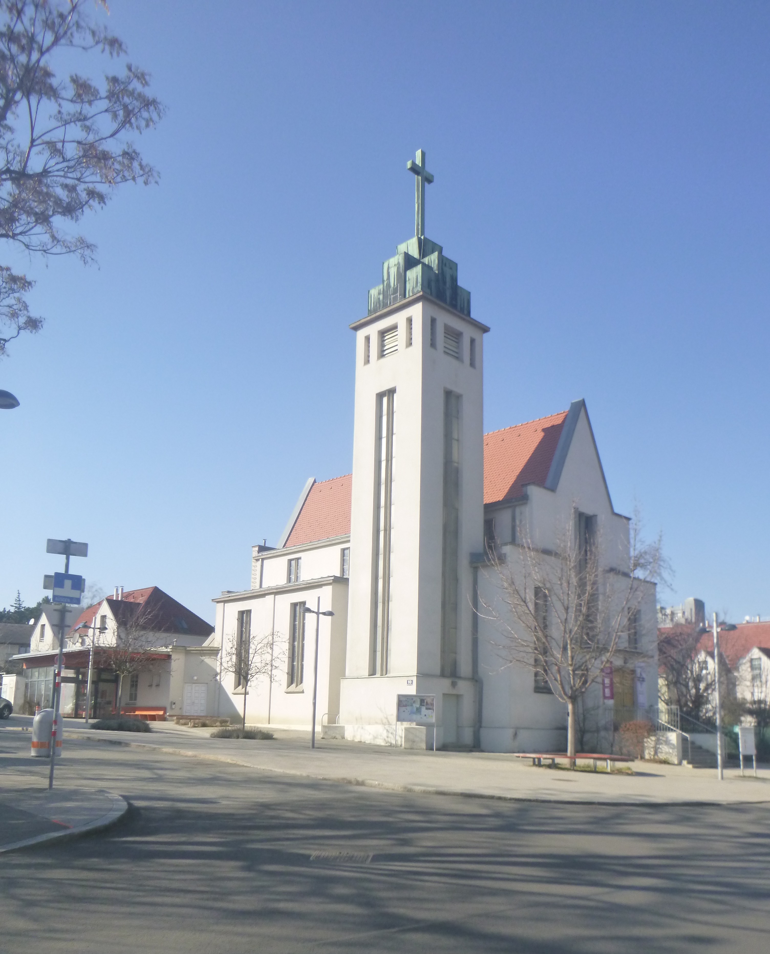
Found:
[{"label": "clear blue sky above and around the church", "polygon": [[307,477],[351,469],[348,324],[423,148],[427,234],[492,326],[485,428],[585,398],[662,600],[770,615],[766,3],[110,6],[162,177],[85,223],[98,267],[2,250],[48,323],[0,364],[0,605],[43,595],[49,536],[208,619],[248,587]]}]

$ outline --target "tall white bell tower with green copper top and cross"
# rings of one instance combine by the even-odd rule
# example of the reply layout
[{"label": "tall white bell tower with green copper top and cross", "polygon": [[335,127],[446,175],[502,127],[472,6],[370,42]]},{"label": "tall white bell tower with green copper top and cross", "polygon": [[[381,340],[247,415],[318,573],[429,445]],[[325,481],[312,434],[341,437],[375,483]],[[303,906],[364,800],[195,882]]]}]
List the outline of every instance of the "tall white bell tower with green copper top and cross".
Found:
[{"label": "tall white bell tower with green copper top and cross", "polygon": [[[483,335],[457,264],[425,232],[382,266],[355,321],[350,596],[340,723],[395,741],[396,696],[436,695],[439,745],[470,744],[476,712],[470,554],[483,550]],[[430,743],[433,739],[431,737]]]}]

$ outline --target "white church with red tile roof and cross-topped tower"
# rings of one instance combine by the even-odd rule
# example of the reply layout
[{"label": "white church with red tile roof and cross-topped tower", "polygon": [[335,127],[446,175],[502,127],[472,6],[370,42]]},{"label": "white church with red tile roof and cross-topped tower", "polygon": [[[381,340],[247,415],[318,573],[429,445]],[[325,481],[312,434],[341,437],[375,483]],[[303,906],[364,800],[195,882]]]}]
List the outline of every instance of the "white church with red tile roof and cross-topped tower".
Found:
[{"label": "white church with red tile roof and cross-topped tower", "polygon": [[[320,606],[334,612],[319,621],[316,728],[334,727],[325,734],[399,743],[397,696],[433,695],[438,747],[563,750],[564,703],[510,664],[510,621],[486,610],[524,540],[555,551],[576,513],[601,528],[602,566],[627,575],[629,521],[612,506],[582,401],[484,435],[490,329],[471,317],[456,262],[424,236],[424,154],[410,169],[415,238],[384,263],[368,314],[351,325],[353,473],[307,482],[277,546],[253,548],[251,588],[214,600],[213,640],[274,640],[281,665],[249,687],[250,723],[310,727],[315,617],[303,610]],[[618,689],[627,709],[644,709],[656,702],[644,693],[657,685],[654,586],[623,639]],[[222,675],[221,715],[242,709],[237,682]],[[601,685],[590,691],[594,709],[614,708],[604,689],[603,699]]]}]

